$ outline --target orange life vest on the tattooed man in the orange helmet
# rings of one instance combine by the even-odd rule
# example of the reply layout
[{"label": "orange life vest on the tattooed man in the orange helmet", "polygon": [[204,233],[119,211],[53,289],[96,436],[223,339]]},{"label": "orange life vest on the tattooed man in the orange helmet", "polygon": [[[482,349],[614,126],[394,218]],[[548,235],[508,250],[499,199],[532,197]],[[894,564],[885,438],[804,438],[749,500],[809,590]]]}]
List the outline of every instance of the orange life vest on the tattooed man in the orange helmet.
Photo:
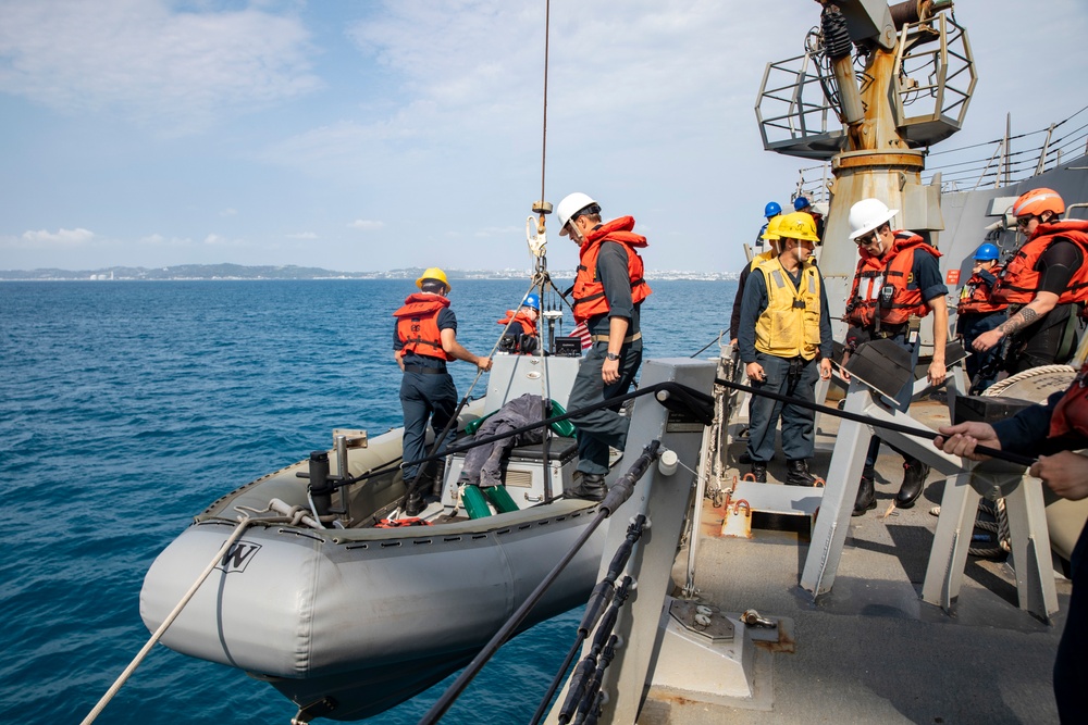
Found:
[{"label": "orange life vest on the tattooed man in the orange helmet", "polygon": [[998,277],[998,284],[993,286],[993,298],[1012,304],[1027,304],[1034,300],[1040,282],[1036,265],[1058,239],[1068,239],[1080,247],[1085,261],[1078,270],[1073,271],[1070,285],[1058,298],[1058,303],[1088,300],[1088,221],[1083,220],[1040,224],[1035,236],[1016,250],[1009,266]]}]

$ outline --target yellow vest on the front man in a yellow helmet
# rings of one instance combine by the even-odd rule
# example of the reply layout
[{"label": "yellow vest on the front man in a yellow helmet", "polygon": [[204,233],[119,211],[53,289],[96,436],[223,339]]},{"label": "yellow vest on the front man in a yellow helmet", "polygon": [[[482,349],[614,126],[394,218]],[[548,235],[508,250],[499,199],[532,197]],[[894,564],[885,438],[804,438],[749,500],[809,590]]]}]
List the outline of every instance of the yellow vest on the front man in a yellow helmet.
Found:
[{"label": "yellow vest on the front man in a yellow helmet", "polygon": [[755,349],[776,358],[812,360],[819,352],[819,271],[806,262],[801,289],[778,258],[758,267],[767,283],[767,309],[755,325]]}]

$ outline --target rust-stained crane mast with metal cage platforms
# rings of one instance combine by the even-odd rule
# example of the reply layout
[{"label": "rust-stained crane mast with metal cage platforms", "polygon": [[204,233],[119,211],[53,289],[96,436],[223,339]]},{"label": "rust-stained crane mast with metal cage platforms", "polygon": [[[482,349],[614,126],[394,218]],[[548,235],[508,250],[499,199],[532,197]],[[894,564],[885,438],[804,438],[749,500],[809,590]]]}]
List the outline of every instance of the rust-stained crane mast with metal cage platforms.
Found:
[{"label": "rust-stained crane mast with metal cage platforms", "polygon": [[854,202],[880,199],[900,210],[897,228],[938,246],[940,178],[924,185],[922,172],[929,147],[962,127],[976,77],[951,0],[817,2],[805,53],[768,64],[756,117],[767,150],[831,162],[819,264],[841,317],[857,260]]}]

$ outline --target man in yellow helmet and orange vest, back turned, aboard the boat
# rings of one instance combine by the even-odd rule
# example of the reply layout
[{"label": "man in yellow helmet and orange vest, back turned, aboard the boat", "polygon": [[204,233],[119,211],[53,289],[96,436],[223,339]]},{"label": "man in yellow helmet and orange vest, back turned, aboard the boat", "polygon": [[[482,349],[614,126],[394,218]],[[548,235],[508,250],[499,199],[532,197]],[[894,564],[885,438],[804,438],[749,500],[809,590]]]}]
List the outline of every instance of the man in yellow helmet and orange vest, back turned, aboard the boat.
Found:
[{"label": "man in yellow helmet and orange vest, back turned, aboard the boat", "polygon": [[[419,475],[420,465],[415,463],[426,457],[428,421],[438,435],[457,410],[457,386],[446,372],[446,363],[463,360],[481,371],[491,370],[491,358],[474,355],[457,341],[457,317],[446,297],[446,273],[430,267],[416,286],[420,291],[409,295],[404,307],[393,313],[393,357],[404,372],[400,408],[405,416],[403,471],[408,488],[405,508],[412,516],[422,510],[423,491],[430,490],[432,483]],[[448,439],[447,435],[438,441],[436,454],[445,450]]]}]

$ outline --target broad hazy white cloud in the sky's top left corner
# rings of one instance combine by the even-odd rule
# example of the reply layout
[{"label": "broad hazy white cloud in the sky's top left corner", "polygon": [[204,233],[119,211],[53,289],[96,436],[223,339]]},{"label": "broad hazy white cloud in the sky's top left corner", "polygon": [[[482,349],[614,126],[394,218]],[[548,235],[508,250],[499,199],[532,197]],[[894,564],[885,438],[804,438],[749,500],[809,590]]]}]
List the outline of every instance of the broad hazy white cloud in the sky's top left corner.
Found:
[{"label": "broad hazy white cloud in the sky's top left corner", "polygon": [[0,90],[67,114],[107,111],[168,134],[320,87],[309,35],[262,10],[165,0],[0,2]]}]

